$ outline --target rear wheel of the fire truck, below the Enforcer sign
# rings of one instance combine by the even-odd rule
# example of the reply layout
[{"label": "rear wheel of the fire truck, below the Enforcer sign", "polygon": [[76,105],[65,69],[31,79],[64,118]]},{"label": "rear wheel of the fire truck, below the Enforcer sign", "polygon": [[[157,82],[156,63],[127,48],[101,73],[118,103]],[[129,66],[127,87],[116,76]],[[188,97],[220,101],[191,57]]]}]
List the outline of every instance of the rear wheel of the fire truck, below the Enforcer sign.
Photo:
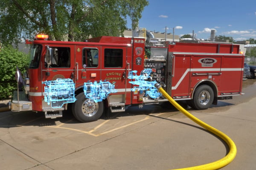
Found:
[{"label": "rear wheel of the fire truck, below the Enforcer sign", "polygon": [[204,110],[212,105],[214,93],[209,85],[201,85],[195,89],[193,99],[189,102],[192,108]]}]

